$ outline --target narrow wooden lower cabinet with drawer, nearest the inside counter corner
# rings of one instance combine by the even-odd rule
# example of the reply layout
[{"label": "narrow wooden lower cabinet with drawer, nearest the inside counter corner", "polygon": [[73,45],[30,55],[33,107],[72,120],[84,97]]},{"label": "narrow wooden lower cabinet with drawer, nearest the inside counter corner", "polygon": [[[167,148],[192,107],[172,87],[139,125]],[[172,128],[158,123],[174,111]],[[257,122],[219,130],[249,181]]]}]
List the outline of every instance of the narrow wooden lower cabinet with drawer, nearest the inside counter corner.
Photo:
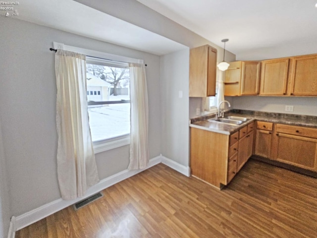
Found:
[{"label": "narrow wooden lower cabinet with drawer, nearest the inside counter corner", "polygon": [[270,158],[273,123],[258,121],[255,154]]}]

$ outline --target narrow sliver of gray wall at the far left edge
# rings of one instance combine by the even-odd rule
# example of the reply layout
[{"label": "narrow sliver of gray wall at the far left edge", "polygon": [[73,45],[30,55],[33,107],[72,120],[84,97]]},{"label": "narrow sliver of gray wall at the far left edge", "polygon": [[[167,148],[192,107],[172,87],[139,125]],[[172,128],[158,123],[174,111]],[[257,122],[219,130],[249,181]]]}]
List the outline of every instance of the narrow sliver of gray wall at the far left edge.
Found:
[{"label": "narrow sliver of gray wall at the far left edge", "polygon": [[9,191],[6,176],[6,163],[0,123],[0,238],[7,236],[10,223]]}]

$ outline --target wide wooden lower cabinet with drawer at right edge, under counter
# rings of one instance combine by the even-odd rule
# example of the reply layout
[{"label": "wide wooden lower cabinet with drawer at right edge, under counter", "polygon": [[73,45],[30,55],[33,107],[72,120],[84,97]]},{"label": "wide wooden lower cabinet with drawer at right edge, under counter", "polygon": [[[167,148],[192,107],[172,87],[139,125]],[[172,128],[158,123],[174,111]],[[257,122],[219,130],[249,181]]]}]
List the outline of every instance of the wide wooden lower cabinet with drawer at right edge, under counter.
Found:
[{"label": "wide wooden lower cabinet with drawer at right edge, under counter", "polygon": [[317,171],[317,129],[276,124],[274,160]]}]

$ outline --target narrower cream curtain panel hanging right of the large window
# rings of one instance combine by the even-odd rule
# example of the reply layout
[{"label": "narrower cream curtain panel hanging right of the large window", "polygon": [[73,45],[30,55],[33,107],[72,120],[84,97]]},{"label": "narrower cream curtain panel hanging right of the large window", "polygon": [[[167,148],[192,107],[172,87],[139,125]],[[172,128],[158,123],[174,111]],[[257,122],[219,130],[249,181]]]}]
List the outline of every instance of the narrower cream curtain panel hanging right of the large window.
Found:
[{"label": "narrower cream curtain panel hanging right of the large window", "polygon": [[129,170],[144,169],[149,162],[149,107],[145,66],[129,63],[131,133]]}]

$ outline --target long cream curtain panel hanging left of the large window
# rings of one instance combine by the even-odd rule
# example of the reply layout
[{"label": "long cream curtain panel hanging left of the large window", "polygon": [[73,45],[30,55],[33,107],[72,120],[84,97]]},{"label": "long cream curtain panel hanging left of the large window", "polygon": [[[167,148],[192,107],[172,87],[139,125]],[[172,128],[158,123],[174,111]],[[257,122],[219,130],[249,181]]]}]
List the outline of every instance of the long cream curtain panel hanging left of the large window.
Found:
[{"label": "long cream curtain panel hanging left of the large window", "polygon": [[57,50],[57,176],[61,196],[73,200],[99,181],[89,128],[86,57]]}]

